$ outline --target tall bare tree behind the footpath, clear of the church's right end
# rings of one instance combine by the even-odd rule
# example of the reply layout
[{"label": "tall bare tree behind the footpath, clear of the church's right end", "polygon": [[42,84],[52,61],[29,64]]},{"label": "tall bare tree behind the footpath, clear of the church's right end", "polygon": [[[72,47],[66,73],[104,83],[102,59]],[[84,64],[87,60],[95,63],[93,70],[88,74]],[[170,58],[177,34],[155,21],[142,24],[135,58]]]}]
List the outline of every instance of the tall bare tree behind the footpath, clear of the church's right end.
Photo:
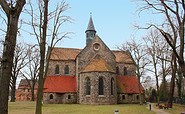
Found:
[{"label": "tall bare tree behind the footpath, clear of the church's right end", "polygon": [[157,102],[160,100],[160,90],[159,90],[159,81],[160,76],[162,76],[162,83],[166,87],[166,76],[169,73],[169,49],[167,43],[161,39],[161,34],[156,30],[152,30],[149,34],[144,37],[144,41],[147,47],[148,55],[151,58],[151,68],[148,69],[152,72],[156,79],[156,88],[157,88]]}]

